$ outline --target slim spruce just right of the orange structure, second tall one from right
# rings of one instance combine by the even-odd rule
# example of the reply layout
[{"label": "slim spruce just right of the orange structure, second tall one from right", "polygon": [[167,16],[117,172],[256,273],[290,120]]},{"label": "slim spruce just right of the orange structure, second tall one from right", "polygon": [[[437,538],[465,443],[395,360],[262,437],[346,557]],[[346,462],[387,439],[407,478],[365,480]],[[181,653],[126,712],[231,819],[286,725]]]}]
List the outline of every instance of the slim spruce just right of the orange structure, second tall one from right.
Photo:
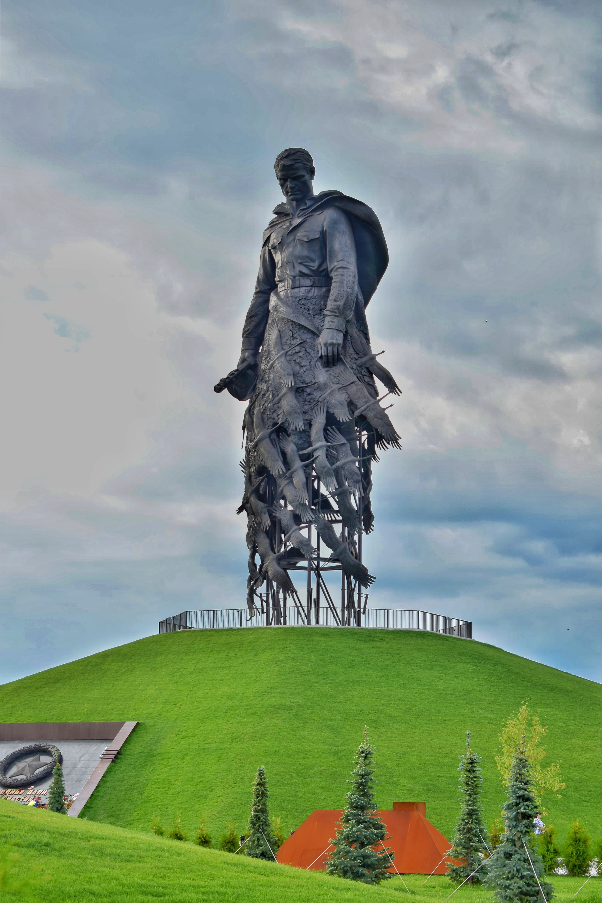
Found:
[{"label": "slim spruce just right of the orange structure, second tall one from right", "polygon": [[[448,865],[447,875],[452,881],[461,884],[468,879],[469,884],[480,884],[485,878],[486,865],[483,856],[487,857],[488,838],[483,822],[483,806],[481,793],[483,778],[481,777],[481,757],[470,748],[470,731],[466,732],[466,753],[460,756],[458,767],[460,773],[459,788],[460,814],[456,824],[453,846],[449,851],[449,859],[460,861],[460,865]],[[482,853],[483,855],[479,855]],[[478,869],[478,871],[477,871]],[[474,874],[474,872],[477,874]]]}]

